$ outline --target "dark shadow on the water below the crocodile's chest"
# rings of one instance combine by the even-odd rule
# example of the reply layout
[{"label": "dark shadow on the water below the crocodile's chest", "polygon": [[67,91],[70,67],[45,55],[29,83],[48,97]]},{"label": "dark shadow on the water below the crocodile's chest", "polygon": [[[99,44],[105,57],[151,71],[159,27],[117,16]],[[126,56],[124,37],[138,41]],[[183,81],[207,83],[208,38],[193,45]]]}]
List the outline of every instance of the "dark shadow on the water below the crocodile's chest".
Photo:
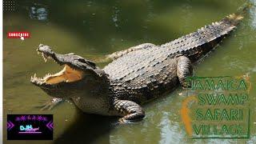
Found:
[{"label": "dark shadow on the water below the crocodile's chest", "polygon": [[[54,143],[109,143],[111,122],[116,118],[95,114],[84,114],[76,110],[74,122],[54,140]],[[102,140],[103,139],[103,140]]]}]

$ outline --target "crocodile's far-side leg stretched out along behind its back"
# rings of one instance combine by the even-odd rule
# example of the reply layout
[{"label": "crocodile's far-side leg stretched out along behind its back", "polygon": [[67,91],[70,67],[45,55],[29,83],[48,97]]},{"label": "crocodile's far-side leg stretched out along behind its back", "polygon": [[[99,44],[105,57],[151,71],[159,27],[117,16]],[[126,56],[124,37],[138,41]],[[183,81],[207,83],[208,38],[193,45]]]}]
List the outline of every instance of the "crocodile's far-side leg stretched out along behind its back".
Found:
[{"label": "crocodile's far-side leg stretched out along behind its back", "polygon": [[130,47],[129,49],[126,49],[126,50],[121,50],[121,51],[114,52],[113,54],[108,54],[108,55],[106,55],[106,58],[114,60],[114,59],[122,57],[125,54],[130,53],[131,51],[146,49],[148,47],[153,47],[153,46],[155,46],[155,45],[152,44],[152,43],[143,43],[143,44],[138,45],[138,46]]}]

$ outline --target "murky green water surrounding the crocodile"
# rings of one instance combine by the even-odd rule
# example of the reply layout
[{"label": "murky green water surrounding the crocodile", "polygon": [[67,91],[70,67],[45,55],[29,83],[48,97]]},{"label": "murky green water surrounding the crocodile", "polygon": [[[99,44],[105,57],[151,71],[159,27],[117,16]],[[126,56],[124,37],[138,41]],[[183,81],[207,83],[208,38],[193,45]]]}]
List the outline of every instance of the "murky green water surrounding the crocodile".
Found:
[{"label": "murky green water surrounding the crocodile", "polygon": [[[83,114],[72,102],[40,111],[36,106],[50,97],[30,84],[34,73],[43,76],[61,69],[54,62],[43,62],[36,54],[40,43],[52,46],[58,53],[74,52],[94,60],[145,42],[170,42],[235,12],[244,2],[24,0],[16,3],[16,12],[5,12],[3,19],[4,143],[256,143],[255,7],[230,38],[194,66],[198,76],[250,76],[253,83],[250,139],[188,138],[179,114],[186,98],[186,91],[181,88],[143,106],[146,118],[142,122],[117,126],[117,118]],[[33,7],[45,10],[34,13]],[[9,39],[8,31],[29,31],[31,38]],[[105,65],[98,63],[101,67]],[[6,114],[54,114],[54,141],[6,141]]]}]

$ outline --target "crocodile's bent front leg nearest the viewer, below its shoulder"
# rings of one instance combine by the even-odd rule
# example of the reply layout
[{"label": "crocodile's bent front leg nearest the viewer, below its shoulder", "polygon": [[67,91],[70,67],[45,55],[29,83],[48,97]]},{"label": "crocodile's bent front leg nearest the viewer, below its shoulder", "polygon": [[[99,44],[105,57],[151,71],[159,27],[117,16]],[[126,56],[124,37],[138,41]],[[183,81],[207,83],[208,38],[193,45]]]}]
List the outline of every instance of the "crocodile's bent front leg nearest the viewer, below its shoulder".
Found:
[{"label": "crocodile's bent front leg nearest the viewer, below its shoulder", "polygon": [[144,110],[136,102],[128,100],[114,100],[114,109],[123,117],[119,118],[119,122],[129,122],[141,120],[145,116]]}]

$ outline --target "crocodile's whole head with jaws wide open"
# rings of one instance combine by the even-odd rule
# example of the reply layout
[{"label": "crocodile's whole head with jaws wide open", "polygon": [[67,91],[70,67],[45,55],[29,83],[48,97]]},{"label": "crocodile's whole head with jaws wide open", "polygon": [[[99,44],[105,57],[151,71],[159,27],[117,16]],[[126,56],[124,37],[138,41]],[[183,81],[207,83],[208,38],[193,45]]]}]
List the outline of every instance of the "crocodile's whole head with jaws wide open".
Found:
[{"label": "crocodile's whole head with jaws wide open", "polygon": [[91,86],[95,86],[94,82],[97,82],[98,75],[94,74],[96,67],[93,63],[75,54],[56,54],[49,46],[40,45],[38,54],[40,53],[45,62],[47,59],[53,59],[54,62],[64,66],[56,74],[46,74],[43,78],[38,78],[34,74],[30,79],[30,82],[50,96],[72,98],[75,94],[86,94],[93,89]]}]

